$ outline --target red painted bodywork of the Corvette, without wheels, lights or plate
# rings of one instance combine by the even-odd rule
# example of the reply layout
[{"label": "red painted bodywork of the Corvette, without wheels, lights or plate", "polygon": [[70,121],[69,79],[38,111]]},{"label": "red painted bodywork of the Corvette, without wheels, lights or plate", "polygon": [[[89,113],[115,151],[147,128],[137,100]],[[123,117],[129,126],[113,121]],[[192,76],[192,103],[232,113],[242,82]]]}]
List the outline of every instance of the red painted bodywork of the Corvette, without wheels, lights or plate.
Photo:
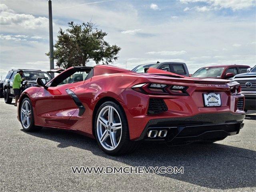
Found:
[{"label": "red painted bodywork of the Corvette, without wheels, lights or plate", "polygon": [[[71,69],[69,68],[62,73]],[[245,114],[243,110],[236,107],[238,98],[244,98],[244,96],[240,93],[231,94],[230,92],[230,87],[237,86],[237,82],[189,78],[154,68],[150,68],[148,72],[150,74],[137,74],[114,66],[95,66],[94,76],[88,80],[55,87],[49,86],[47,90],[43,87],[31,87],[22,93],[20,100],[24,97],[30,98],[35,125],[76,130],[92,138],[94,137],[93,115],[95,108],[98,102],[104,98],[116,100],[124,109],[130,140],[140,138],[146,124],[153,119],[184,118],[197,114],[225,112],[237,115]],[[162,76],[161,74],[170,76]],[[172,77],[172,75],[179,77]],[[143,94],[132,89],[132,86],[142,83],[185,85],[188,86],[186,90],[188,96]],[[66,89],[72,90],[84,105],[86,110],[82,116],[78,115],[78,106],[66,92]],[[220,93],[221,106],[204,107],[202,94],[206,92]],[[148,114],[150,98],[163,99],[168,110],[159,114]],[[18,120],[20,120],[19,112]]]}]

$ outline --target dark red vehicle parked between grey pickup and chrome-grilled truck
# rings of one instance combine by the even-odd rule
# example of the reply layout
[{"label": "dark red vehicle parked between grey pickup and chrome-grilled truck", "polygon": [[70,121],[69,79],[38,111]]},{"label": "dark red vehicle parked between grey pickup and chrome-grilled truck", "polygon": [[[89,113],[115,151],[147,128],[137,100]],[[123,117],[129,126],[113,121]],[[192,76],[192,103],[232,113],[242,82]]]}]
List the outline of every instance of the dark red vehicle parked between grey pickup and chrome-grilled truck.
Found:
[{"label": "dark red vehicle parked between grey pickup and chrome-grilled truck", "polygon": [[219,65],[202,67],[191,77],[194,78],[220,78],[230,79],[237,74],[245,73],[250,66],[247,65]]}]

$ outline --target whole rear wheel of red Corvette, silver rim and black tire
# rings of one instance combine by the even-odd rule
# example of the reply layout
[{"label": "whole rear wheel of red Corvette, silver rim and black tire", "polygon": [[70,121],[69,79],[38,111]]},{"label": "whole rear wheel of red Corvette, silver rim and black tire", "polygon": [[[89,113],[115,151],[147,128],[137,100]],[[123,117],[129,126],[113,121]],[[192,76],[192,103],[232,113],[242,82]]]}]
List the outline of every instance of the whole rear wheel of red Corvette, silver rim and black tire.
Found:
[{"label": "whole rear wheel of red Corvette, silver rim and black tire", "polygon": [[94,122],[94,131],[98,145],[106,154],[127,154],[138,146],[138,142],[130,140],[123,109],[114,102],[104,102],[100,106]]}]

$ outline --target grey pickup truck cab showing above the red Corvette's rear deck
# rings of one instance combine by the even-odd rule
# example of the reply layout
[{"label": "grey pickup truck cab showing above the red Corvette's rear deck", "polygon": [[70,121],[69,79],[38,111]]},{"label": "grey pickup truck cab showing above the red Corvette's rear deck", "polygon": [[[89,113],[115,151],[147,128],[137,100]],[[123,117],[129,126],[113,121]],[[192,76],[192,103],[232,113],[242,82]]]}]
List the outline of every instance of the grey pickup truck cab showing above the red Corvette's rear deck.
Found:
[{"label": "grey pickup truck cab showing above the red Corvette's rear deck", "polygon": [[186,63],[179,62],[156,62],[136,66],[132,71],[137,73],[145,73],[148,68],[156,68],[164,71],[172,72],[179,75],[189,76]]}]

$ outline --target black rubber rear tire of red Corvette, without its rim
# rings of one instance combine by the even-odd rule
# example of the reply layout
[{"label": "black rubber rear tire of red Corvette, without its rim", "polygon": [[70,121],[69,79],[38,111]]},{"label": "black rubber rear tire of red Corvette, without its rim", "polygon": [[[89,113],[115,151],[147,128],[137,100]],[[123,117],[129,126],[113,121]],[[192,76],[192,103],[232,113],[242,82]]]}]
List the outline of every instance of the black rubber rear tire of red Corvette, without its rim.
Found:
[{"label": "black rubber rear tire of red Corvette, without its rim", "polygon": [[[120,142],[118,144],[118,146],[114,149],[114,150],[107,150],[105,149],[102,144],[99,141],[98,138],[98,134],[97,134],[97,119],[98,119],[98,115],[100,113],[100,111],[102,110],[102,108],[104,108],[105,106],[112,106],[114,107],[121,119],[121,124],[122,124],[122,134],[120,137]],[[100,108],[98,109],[95,119],[94,119],[94,133],[95,133],[95,138],[97,140],[97,143],[99,145],[99,147],[108,155],[122,155],[122,154],[129,154],[131,152],[133,152],[134,150],[136,150],[136,148],[138,147],[138,142],[134,142],[130,140],[130,136],[129,136],[129,128],[128,128],[128,123],[127,123],[127,119],[126,119],[126,115],[124,110],[122,109],[121,106],[119,106],[118,104],[108,101],[108,102],[104,102]]]}]

